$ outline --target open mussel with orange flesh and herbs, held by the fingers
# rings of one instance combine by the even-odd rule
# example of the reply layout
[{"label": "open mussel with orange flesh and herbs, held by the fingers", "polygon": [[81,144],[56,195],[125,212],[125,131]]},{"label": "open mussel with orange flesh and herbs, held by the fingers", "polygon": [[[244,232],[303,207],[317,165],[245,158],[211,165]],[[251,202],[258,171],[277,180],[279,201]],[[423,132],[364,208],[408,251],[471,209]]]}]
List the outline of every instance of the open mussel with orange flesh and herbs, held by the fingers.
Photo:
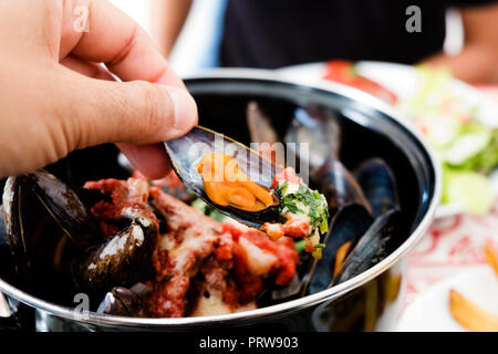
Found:
[{"label": "open mussel with orange flesh and herbs, held by the fingers", "polygon": [[326,200],[292,168],[277,167],[260,152],[199,126],[165,146],[176,174],[200,199],[272,239],[305,238],[305,250],[320,257]]}]

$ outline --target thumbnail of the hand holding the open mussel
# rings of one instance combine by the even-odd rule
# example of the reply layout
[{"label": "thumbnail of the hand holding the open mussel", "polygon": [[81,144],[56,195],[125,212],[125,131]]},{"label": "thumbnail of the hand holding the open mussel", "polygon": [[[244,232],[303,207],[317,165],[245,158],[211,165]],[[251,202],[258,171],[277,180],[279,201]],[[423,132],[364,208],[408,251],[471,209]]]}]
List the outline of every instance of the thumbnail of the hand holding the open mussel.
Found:
[{"label": "thumbnail of the hand holding the open mussel", "polygon": [[169,90],[169,97],[175,111],[173,127],[185,133],[197,124],[197,105],[188,92]]}]

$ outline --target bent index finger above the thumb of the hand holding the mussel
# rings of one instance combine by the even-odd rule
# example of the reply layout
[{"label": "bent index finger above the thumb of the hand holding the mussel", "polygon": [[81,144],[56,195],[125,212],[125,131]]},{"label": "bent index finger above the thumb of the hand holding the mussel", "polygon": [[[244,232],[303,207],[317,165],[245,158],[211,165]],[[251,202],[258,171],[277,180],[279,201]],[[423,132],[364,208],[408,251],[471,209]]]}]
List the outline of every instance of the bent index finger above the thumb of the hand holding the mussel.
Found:
[{"label": "bent index finger above the thumb of the hand holding the mussel", "polygon": [[148,33],[107,1],[90,0],[86,6],[87,31],[80,35],[68,34],[75,31],[75,3],[66,1],[65,4],[72,6],[64,11],[64,15],[71,15],[72,20],[63,21],[61,53],[71,52],[91,62],[103,62],[123,81],[143,80],[185,87]]}]

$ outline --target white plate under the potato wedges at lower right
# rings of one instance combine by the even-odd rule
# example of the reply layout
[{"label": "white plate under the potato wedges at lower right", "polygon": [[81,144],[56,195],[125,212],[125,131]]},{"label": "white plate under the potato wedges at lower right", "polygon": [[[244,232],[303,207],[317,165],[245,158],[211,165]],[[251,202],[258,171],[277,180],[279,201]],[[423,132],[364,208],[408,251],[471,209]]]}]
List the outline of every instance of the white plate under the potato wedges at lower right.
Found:
[{"label": "white plate under the potato wedges at lower right", "polygon": [[449,312],[449,291],[454,289],[478,306],[498,315],[498,279],[489,266],[477,266],[438,282],[418,295],[403,312],[398,332],[464,332]]}]

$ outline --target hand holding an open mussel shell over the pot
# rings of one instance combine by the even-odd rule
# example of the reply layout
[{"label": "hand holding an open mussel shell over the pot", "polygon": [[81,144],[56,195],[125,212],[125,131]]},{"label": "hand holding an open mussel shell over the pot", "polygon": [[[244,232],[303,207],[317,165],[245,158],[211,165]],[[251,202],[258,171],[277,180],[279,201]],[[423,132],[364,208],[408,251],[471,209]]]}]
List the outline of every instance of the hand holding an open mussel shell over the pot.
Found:
[{"label": "hand holding an open mussel shell over the pot", "polygon": [[0,177],[117,143],[159,178],[169,165],[155,143],[197,123],[194,100],[146,32],[105,0],[2,0],[0,43]]}]

